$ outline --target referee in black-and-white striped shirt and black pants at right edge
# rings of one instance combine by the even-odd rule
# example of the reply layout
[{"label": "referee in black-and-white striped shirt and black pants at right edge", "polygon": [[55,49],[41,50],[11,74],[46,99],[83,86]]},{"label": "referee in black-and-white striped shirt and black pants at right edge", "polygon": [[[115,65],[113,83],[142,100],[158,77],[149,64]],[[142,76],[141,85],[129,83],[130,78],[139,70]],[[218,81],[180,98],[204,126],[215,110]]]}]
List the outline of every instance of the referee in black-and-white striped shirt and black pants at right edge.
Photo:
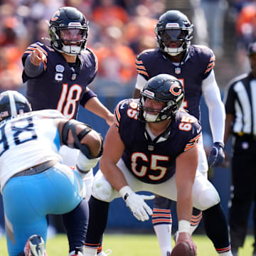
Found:
[{"label": "referee in black-and-white striped shirt and black pants at right edge", "polygon": [[[233,135],[230,240],[233,255],[245,242],[247,220],[256,199],[256,42],[248,48],[250,73],[230,81],[225,92],[224,143]],[[253,214],[256,235],[256,210]],[[256,239],[255,239],[256,241]],[[252,256],[256,256],[254,243]]]}]

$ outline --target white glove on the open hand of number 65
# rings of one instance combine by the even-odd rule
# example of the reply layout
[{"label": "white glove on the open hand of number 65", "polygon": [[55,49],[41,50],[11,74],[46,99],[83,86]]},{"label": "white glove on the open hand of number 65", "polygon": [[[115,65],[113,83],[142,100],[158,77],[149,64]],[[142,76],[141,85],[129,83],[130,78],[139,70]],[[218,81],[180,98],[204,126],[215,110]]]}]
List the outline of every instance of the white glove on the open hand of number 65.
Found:
[{"label": "white glove on the open hand of number 65", "polygon": [[151,208],[145,203],[144,200],[154,199],[154,196],[145,196],[134,193],[129,186],[124,186],[119,190],[119,194],[126,202],[127,207],[130,208],[132,214],[137,220],[149,220],[149,215],[153,214]]}]

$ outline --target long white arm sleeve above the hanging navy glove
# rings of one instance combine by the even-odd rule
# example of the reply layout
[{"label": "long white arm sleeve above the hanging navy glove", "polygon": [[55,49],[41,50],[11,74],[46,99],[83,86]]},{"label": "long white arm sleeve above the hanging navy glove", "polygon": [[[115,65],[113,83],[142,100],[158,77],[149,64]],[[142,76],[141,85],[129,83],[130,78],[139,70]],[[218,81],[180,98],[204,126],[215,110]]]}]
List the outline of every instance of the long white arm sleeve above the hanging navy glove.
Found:
[{"label": "long white arm sleeve above the hanging navy glove", "polygon": [[225,129],[225,107],[221,101],[220,90],[215,80],[213,70],[211,70],[210,75],[203,80],[202,91],[208,107],[213,142],[223,143]]}]

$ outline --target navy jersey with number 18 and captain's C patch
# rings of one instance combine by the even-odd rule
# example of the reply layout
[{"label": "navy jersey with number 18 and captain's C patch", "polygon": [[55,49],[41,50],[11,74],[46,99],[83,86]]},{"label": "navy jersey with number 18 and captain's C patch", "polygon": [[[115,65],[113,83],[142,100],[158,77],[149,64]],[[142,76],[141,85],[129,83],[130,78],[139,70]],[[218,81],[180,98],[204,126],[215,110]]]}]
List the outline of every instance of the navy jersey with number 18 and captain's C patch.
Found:
[{"label": "navy jersey with number 18 and captain's C patch", "polygon": [[33,110],[59,110],[68,119],[77,118],[79,104],[85,106],[85,90],[97,73],[97,57],[88,49],[78,55],[74,67],[70,67],[63,55],[43,43],[33,43],[23,53],[26,57],[38,48],[46,55],[44,70],[36,78],[29,78],[23,71],[23,82],[27,82],[26,97]]}]

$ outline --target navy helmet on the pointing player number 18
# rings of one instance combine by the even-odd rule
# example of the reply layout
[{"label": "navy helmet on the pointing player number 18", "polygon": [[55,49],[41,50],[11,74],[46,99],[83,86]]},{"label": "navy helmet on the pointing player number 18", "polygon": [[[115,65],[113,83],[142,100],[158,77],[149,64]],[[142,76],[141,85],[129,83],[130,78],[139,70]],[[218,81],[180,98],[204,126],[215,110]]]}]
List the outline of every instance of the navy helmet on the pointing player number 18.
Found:
[{"label": "navy helmet on the pointing player number 18", "polygon": [[62,7],[50,18],[50,43],[55,50],[77,55],[86,48],[89,22],[74,7]]}]

